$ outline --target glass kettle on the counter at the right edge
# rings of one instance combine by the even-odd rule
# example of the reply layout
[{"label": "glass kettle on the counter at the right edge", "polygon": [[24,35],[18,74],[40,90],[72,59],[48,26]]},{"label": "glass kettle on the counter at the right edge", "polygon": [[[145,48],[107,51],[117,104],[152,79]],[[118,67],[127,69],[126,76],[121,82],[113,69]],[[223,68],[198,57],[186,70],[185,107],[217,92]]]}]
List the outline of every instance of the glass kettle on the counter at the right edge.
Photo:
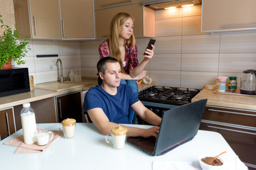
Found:
[{"label": "glass kettle on the counter at the right edge", "polygon": [[256,95],[256,70],[242,72],[240,94]]}]

